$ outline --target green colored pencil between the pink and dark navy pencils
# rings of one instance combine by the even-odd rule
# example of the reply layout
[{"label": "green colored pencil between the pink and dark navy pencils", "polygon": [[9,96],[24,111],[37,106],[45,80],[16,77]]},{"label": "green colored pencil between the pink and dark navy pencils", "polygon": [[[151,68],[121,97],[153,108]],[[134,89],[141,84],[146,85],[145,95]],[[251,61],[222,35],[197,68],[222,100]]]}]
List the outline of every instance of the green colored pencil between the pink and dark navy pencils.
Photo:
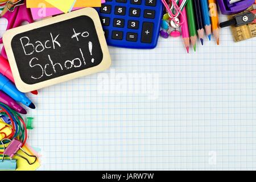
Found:
[{"label": "green colored pencil between the pink and dark navy pencils", "polygon": [[193,11],[193,2],[192,2],[192,0],[188,0],[186,10],[187,10],[190,40],[191,40],[192,46],[194,48],[194,51],[196,51],[196,40],[197,40],[196,22],[195,22],[195,15],[194,15],[194,11]]}]

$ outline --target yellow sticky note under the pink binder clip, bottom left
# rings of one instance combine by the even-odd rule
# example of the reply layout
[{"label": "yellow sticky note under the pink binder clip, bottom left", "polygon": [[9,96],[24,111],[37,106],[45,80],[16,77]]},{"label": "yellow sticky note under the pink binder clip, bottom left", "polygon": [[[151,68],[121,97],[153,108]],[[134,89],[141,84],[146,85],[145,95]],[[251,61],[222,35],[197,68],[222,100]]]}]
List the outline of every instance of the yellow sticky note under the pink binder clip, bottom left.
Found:
[{"label": "yellow sticky note under the pink binder clip, bottom left", "polygon": [[[22,149],[24,151],[26,151],[28,154],[30,155],[34,155],[32,154],[32,152],[28,149],[29,147],[27,147],[27,144],[25,144]],[[30,160],[31,162],[34,160],[34,158],[27,156],[26,154],[24,154],[24,152],[22,152],[21,150],[19,150],[17,152],[19,155],[24,156],[25,158],[27,158],[28,160]],[[40,167],[40,160],[37,159],[36,162],[32,165],[28,164],[26,160],[20,158],[19,156],[14,155],[13,157],[14,159],[17,159],[17,169],[16,171],[35,171],[37,168]]]}]

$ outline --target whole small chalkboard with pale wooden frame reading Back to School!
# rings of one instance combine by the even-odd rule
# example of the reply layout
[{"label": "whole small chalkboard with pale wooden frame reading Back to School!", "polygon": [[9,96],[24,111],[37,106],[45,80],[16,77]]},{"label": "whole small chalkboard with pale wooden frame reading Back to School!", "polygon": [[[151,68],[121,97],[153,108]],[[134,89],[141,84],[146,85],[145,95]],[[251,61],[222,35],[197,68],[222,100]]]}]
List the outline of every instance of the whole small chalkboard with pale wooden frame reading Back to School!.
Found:
[{"label": "whole small chalkboard with pale wooden frame reading Back to School!", "polygon": [[21,92],[100,72],[111,64],[100,18],[89,7],[11,29],[3,43]]}]

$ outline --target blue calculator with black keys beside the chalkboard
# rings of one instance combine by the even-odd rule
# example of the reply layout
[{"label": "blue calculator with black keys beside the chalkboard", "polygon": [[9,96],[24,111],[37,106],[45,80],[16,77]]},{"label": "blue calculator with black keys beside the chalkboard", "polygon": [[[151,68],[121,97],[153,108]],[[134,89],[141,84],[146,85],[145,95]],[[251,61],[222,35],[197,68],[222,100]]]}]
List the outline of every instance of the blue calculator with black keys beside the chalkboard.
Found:
[{"label": "blue calculator with black keys beside the chalkboard", "polygon": [[160,0],[106,0],[97,10],[109,46],[156,47],[163,18]]}]

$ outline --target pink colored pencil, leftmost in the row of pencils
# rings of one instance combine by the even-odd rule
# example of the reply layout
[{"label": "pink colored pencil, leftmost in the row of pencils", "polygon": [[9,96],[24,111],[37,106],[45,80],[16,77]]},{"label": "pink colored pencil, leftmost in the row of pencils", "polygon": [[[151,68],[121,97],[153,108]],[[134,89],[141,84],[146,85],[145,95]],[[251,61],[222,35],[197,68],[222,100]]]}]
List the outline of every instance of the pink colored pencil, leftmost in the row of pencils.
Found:
[{"label": "pink colored pencil, leftmost in the row of pencils", "polygon": [[[181,5],[183,1],[184,0],[180,0],[179,4]],[[181,11],[181,14],[182,15],[180,16],[180,20],[181,22],[183,22],[183,24],[181,24],[180,26],[181,34],[182,34],[184,46],[187,49],[187,52],[189,53],[189,30],[188,30],[187,11],[185,8]]]}]

